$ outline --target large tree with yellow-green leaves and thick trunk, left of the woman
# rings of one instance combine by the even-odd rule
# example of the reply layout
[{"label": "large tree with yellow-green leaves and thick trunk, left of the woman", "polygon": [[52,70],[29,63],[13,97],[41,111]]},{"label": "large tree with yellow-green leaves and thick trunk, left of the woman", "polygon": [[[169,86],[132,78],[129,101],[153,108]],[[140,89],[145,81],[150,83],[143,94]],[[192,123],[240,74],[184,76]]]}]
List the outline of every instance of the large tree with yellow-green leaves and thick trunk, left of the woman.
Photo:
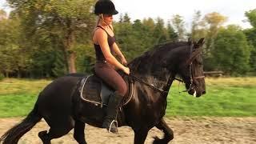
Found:
[{"label": "large tree with yellow-green leaves and thick trunk, left of the woman", "polygon": [[63,46],[64,58],[70,73],[76,72],[75,58],[76,39],[78,33],[90,36],[94,26],[94,16],[91,7],[94,0],[8,0],[10,6],[22,17],[22,26],[26,36],[33,37],[35,33],[44,33],[58,37]]}]

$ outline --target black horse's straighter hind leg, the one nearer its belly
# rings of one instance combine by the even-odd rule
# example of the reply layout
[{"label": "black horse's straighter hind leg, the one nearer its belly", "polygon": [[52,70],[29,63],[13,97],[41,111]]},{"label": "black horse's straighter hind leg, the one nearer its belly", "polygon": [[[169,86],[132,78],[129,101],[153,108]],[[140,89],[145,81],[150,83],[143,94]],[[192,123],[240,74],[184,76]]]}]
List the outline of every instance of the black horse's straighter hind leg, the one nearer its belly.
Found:
[{"label": "black horse's straighter hind leg, the one nearer its belly", "polygon": [[79,144],[86,144],[86,138],[85,138],[85,126],[86,124],[81,121],[75,121],[74,123],[74,139]]}]

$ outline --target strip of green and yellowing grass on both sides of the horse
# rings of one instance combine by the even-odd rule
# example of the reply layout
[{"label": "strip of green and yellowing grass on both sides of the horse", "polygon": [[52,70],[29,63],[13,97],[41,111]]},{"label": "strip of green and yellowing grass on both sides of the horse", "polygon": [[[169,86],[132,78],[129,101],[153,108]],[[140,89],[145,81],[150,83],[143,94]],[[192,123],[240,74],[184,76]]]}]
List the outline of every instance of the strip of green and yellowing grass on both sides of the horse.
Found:
[{"label": "strip of green and yellowing grass on both sides of the horse", "polygon": [[[51,81],[6,78],[0,82],[0,118],[20,117],[33,109],[38,93]],[[170,89],[167,117],[256,116],[256,77],[206,78],[206,94],[194,98],[178,82]]]}]

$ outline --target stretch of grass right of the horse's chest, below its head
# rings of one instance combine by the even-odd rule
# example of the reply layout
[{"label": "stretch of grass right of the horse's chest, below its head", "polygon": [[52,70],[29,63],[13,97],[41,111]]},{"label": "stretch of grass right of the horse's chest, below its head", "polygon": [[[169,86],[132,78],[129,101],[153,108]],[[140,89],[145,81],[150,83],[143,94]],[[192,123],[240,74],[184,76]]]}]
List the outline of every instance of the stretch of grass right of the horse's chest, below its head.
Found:
[{"label": "stretch of grass right of the horse's chest, below its head", "polygon": [[200,98],[178,94],[182,88],[171,87],[166,116],[256,116],[256,78],[206,78]]}]

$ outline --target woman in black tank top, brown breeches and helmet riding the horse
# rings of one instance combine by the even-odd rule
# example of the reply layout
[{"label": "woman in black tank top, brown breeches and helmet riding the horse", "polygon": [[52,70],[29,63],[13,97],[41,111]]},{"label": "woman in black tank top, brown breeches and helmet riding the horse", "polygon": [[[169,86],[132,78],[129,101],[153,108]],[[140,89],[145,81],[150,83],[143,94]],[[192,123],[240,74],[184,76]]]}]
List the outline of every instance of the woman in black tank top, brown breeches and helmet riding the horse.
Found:
[{"label": "woman in black tank top, brown breeches and helmet riding the horse", "polygon": [[[130,74],[130,69],[122,64],[127,64],[126,58],[119,50],[115,42],[114,31],[112,26],[113,14],[118,14],[115,10],[113,2],[110,0],[99,0],[95,4],[94,14],[98,15],[98,22],[94,30],[93,42],[96,52],[96,64],[94,66],[95,73],[102,78],[109,86],[114,88],[115,92],[110,96],[106,108],[106,117],[102,124],[106,130],[117,133],[118,129],[115,126],[115,118],[118,106],[122,102],[126,94],[126,82],[122,79],[120,74],[115,70],[122,70],[126,74]],[[113,54],[118,54],[121,62],[114,58]]]}]

